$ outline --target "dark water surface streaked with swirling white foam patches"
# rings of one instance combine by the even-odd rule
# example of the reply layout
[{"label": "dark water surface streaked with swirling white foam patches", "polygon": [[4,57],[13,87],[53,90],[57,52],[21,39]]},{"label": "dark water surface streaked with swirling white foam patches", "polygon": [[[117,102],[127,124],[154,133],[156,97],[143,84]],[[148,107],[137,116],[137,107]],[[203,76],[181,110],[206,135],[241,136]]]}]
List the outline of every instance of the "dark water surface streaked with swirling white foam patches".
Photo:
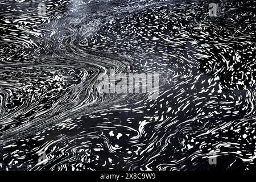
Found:
[{"label": "dark water surface streaked with swirling white foam patches", "polygon": [[[0,0],[0,169],[255,168],[256,3],[209,3]],[[159,97],[99,92],[110,69]]]}]

